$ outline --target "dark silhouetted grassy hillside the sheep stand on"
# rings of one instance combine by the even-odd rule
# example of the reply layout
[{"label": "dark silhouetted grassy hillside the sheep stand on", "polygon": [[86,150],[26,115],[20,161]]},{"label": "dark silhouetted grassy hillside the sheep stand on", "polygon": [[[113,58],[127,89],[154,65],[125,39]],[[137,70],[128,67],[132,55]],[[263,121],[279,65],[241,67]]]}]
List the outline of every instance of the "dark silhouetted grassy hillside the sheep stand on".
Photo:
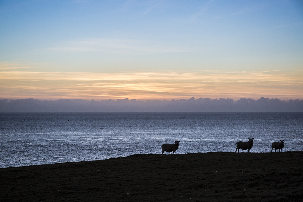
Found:
[{"label": "dark silhouetted grassy hillside the sheep stand on", "polygon": [[302,201],[303,152],[136,154],[0,169],[1,201]]}]

